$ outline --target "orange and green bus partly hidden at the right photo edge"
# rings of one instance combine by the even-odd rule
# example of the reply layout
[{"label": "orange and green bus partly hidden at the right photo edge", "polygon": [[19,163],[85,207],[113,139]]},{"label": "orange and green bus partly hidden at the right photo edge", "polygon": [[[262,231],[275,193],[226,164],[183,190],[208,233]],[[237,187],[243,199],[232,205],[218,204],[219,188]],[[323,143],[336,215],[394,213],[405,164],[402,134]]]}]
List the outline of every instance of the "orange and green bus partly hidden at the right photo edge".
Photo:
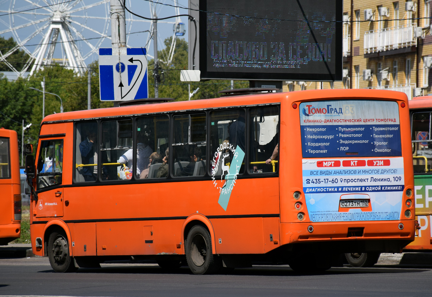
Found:
[{"label": "orange and green bus partly hidden at the right photo edge", "polygon": [[414,241],[403,248],[410,251],[432,251],[432,96],[409,101],[414,164],[414,204],[418,230]]}]

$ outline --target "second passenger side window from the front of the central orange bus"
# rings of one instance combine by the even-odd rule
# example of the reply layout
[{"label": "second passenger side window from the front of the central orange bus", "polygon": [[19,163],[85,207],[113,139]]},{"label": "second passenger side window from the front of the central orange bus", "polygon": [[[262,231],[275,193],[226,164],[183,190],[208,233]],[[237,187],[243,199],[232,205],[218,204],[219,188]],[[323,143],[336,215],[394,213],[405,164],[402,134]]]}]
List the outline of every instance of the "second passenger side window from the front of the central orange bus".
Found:
[{"label": "second passenger side window from the front of the central orange bus", "polygon": [[102,166],[99,166],[102,180],[132,178],[132,139],[132,120],[102,122]]}]

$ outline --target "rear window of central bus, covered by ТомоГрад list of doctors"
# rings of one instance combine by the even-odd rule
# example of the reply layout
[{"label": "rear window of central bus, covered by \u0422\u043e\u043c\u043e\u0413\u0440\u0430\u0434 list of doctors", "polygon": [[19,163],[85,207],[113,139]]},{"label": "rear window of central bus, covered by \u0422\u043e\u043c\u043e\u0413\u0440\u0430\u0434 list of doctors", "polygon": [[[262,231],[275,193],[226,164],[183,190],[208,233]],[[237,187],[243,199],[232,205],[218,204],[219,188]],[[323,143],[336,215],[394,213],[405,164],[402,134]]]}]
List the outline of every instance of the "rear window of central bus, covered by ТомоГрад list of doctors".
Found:
[{"label": "rear window of central bus, covered by \u0422\u043e\u043c\u043e\u0413\u0440\u0430\u0434 list of doctors", "polygon": [[299,112],[304,158],[402,155],[397,102],[304,102]]}]

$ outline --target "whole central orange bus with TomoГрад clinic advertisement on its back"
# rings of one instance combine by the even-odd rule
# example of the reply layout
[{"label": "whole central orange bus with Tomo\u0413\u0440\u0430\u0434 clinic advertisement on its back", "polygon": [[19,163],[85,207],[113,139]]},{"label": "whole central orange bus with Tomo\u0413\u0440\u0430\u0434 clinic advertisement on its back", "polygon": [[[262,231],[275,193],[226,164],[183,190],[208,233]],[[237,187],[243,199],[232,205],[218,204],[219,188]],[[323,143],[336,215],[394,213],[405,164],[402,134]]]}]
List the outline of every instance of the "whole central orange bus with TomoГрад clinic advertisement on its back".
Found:
[{"label": "whole central orange bus with Tomo\u0413\u0440\u0430\u0434 clinic advertisement on its back", "polygon": [[341,253],[398,253],[414,239],[403,93],[152,100],[41,123],[35,164],[26,158],[32,248],[56,272],[75,271],[73,259],[326,270]]}]

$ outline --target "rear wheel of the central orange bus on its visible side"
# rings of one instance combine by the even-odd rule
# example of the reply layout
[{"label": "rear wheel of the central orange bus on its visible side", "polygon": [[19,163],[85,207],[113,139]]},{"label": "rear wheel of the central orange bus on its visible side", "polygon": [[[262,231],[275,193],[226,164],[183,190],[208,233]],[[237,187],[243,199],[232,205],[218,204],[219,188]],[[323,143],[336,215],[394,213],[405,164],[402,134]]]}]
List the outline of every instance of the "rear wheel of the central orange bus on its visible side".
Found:
[{"label": "rear wheel of the central orange bus on its visible side", "polygon": [[212,253],[209,232],[201,225],[195,225],[187,234],[185,251],[187,265],[196,275],[216,273],[222,266],[219,257]]}]

